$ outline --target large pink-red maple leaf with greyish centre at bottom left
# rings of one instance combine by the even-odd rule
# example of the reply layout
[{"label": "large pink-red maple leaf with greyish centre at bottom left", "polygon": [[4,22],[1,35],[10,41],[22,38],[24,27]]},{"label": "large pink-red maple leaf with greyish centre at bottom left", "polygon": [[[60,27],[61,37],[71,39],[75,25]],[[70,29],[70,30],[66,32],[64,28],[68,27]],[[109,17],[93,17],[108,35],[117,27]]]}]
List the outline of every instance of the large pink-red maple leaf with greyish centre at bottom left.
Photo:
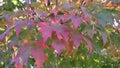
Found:
[{"label": "large pink-red maple leaf with greyish centre at bottom left", "polygon": [[20,52],[13,58],[13,62],[15,62],[16,68],[23,68],[23,65],[27,64],[28,58],[33,56],[35,59],[35,64],[37,68],[42,68],[43,62],[47,60],[47,57],[43,51],[44,46],[42,42],[37,41],[38,45],[30,46],[23,45],[20,46]]}]

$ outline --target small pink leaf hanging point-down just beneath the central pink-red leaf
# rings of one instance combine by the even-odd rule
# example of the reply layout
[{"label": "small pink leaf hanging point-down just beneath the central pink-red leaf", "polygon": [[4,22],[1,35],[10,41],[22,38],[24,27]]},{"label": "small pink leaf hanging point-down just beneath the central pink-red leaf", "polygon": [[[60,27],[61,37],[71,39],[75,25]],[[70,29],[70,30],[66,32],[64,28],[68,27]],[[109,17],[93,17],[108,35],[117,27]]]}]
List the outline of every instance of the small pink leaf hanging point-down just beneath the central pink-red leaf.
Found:
[{"label": "small pink leaf hanging point-down just beneath the central pink-red leaf", "polygon": [[60,55],[62,50],[65,48],[65,44],[62,40],[54,41],[52,47],[56,50],[57,54]]}]

